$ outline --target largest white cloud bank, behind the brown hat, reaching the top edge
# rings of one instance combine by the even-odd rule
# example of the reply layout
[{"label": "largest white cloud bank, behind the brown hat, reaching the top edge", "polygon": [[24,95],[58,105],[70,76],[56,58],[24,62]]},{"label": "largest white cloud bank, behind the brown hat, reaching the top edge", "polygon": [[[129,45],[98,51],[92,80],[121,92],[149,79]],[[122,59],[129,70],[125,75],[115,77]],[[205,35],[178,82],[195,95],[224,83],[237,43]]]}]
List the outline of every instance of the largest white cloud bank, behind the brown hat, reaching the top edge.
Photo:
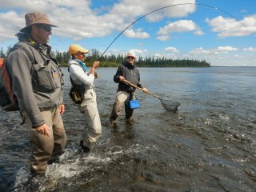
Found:
[{"label": "largest white cloud bank, behind the brown hat, reaching the top edge", "polygon": [[[5,33],[0,33],[0,41],[15,38],[14,34],[25,26],[24,15],[28,12],[46,13],[51,22],[58,26],[53,30],[54,35],[79,40],[106,37],[114,30],[122,31],[127,24],[134,22],[144,14],[148,14],[150,10],[157,10],[159,7],[194,2],[195,0],[170,0],[168,3],[153,0],[122,0],[117,1],[114,6],[107,9],[101,7],[105,10],[104,14],[98,14],[99,10],[92,10],[91,8],[92,0],[77,0],[75,2],[73,0],[2,0],[0,2],[1,9],[18,11],[7,11],[1,14],[1,28],[5,29]],[[150,17],[148,16],[146,19],[159,21],[162,18],[182,17],[193,13],[195,9],[195,5],[173,6],[150,14]],[[13,15],[10,17],[10,14]],[[6,18],[9,18],[12,25],[7,26],[9,23],[6,22],[8,21]],[[6,23],[6,25],[2,23]],[[149,34],[141,31],[130,30],[126,34],[130,35],[130,38],[149,37]]]}]

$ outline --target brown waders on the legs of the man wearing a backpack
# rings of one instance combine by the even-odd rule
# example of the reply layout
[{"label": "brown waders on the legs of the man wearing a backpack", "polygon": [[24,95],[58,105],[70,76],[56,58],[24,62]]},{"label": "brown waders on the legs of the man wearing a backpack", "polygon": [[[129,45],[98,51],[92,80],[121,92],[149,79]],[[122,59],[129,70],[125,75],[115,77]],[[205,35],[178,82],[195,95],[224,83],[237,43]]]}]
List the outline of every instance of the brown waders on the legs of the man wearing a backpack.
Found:
[{"label": "brown waders on the legs of the man wearing a backpack", "polygon": [[26,126],[30,128],[30,170],[32,174],[45,174],[47,162],[58,158],[66,146],[66,133],[58,107],[42,110],[41,114],[46,125],[50,127],[49,137],[32,128],[30,118],[26,113],[22,113]]}]

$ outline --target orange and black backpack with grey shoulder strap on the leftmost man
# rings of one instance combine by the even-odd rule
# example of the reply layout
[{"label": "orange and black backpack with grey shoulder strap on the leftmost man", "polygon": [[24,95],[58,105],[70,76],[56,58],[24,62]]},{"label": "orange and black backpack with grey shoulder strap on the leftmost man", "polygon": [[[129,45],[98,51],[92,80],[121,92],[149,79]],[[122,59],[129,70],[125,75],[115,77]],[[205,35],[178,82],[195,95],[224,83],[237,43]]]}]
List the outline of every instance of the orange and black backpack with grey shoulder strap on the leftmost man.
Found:
[{"label": "orange and black backpack with grey shoulder strap on the leftmost man", "polygon": [[[30,58],[30,62],[34,61],[34,56],[30,50],[24,45],[25,42],[16,44],[11,50],[21,49],[26,52]],[[12,90],[12,81],[10,73],[6,67],[6,58],[0,58],[0,106],[5,111],[16,111],[18,109],[18,100],[14,91]]]}]

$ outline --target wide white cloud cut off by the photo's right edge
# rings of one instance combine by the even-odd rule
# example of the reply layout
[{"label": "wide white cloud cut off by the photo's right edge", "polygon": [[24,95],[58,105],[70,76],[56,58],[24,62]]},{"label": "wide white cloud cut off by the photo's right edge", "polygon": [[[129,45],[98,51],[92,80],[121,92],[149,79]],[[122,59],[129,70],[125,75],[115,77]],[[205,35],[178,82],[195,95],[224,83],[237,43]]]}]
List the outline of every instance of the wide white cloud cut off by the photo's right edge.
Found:
[{"label": "wide white cloud cut off by the photo's right edge", "polygon": [[239,37],[256,33],[256,14],[245,17],[242,21],[235,18],[206,18],[206,22],[218,33],[219,38]]}]

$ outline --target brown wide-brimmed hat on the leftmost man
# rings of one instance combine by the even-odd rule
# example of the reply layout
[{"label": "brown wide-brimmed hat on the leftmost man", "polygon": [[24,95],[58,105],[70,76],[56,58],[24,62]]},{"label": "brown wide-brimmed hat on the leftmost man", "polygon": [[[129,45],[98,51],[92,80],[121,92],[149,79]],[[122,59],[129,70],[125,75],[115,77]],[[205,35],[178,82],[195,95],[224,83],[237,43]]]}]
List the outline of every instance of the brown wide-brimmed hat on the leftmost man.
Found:
[{"label": "brown wide-brimmed hat on the leftmost man", "polygon": [[58,27],[58,26],[54,26],[50,22],[50,20],[46,14],[42,14],[42,13],[26,14],[25,20],[26,20],[26,26],[20,30],[23,33],[26,33],[28,28],[34,24],[45,24],[45,25],[49,25],[49,26],[53,26],[53,27]]}]

